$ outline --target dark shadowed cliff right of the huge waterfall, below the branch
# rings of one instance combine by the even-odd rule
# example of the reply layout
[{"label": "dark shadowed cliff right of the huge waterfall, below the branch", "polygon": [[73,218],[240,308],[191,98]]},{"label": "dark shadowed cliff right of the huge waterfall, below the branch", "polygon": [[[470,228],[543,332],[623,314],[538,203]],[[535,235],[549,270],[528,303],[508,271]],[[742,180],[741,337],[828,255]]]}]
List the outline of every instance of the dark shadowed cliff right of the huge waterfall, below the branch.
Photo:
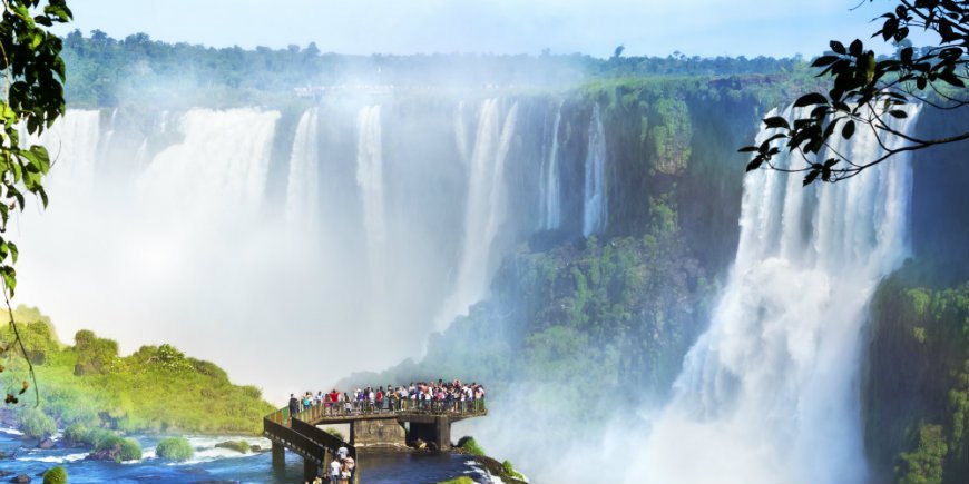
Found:
[{"label": "dark shadowed cliff right of the huge waterfall, below the branch", "polygon": [[[926,110],[921,137],[969,125]],[[875,482],[969,481],[969,159],[965,145],[913,159],[912,258],[871,303],[862,412]]]}]

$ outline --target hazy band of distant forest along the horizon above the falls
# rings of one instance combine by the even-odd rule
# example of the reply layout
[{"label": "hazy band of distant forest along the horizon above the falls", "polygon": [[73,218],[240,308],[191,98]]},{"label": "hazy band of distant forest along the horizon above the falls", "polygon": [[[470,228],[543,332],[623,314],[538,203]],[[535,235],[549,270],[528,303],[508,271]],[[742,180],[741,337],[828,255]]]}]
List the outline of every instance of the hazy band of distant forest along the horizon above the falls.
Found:
[{"label": "hazy band of distant forest along the horizon above the falls", "polygon": [[635,77],[789,76],[806,71],[800,58],[620,57],[608,60],[560,56],[343,56],[314,45],[285,49],[214,49],[165,43],[145,33],[112,39],[105,32],[74,31],[63,39],[71,72],[66,97],[71,106],[165,105],[165,108],[285,105],[294,88],[342,85],[394,85],[466,88],[492,83],[572,88],[585,79]]}]

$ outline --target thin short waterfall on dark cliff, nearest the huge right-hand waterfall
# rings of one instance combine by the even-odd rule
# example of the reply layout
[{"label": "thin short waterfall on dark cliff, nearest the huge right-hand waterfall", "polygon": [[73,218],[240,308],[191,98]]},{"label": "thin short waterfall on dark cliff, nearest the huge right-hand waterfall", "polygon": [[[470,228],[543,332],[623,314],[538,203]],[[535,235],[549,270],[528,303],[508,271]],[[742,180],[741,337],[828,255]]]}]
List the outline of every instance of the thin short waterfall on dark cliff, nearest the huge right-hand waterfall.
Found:
[{"label": "thin short waterfall on dark cliff, nearest the huge right-hand waterfall", "polygon": [[606,132],[599,105],[593,108],[589,122],[589,145],[586,152],[583,190],[583,235],[588,237],[603,229],[606,221]]}]

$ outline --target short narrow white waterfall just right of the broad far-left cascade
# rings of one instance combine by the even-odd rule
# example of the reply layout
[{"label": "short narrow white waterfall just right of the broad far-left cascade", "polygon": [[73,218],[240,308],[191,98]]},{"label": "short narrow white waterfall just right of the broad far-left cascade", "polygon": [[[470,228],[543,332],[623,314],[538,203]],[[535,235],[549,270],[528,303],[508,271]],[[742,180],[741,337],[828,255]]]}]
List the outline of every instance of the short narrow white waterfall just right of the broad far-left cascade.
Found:
[{"label": "short narrow white waterfall just right of the broad far-left cascade", "polygon": [[286,221],[312,227],[319,207],[319,121],[317,109],[300,117],[293,151],[290,157],[290,178],[286,186]]}]

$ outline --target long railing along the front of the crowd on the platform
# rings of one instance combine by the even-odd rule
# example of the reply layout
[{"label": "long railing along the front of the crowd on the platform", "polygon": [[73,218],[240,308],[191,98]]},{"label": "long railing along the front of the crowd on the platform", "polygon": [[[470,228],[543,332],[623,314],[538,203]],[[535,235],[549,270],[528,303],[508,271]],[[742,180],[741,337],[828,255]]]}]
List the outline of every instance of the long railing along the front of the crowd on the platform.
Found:
[{"label": "long railing along the front of the crowd on the platform", "polygon": [[[484,399],[474,401],[418,401],[418,399],[391,399],[383,401],[380,405],[375,402],[337,402],[320,403],[310,405],[295,414],[295,417],[304,422],[320,422],[326,418],[398,415],[398,414],[428,414],[428,415],[477,415],[487,413]],[[276,418],[287,421],[288,408],[278,412]],[[274,414],[275,415],[275,414]],[[275,421],[274,421],[275,422]]]}]

